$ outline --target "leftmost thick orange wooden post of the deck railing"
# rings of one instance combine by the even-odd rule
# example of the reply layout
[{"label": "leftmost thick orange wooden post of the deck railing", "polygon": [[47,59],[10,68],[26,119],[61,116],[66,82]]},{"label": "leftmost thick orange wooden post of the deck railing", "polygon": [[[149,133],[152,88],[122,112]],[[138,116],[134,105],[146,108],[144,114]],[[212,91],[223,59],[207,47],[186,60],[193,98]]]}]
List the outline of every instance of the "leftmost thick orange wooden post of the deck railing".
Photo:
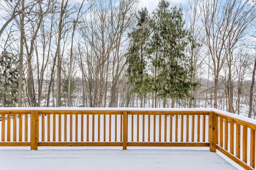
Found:
[{"label": "leftmost thick orange wooden post of the deck railing", "polygon": [[37,142],[38,142],[38,111],[31,111],[30,150],[37,150]]}]

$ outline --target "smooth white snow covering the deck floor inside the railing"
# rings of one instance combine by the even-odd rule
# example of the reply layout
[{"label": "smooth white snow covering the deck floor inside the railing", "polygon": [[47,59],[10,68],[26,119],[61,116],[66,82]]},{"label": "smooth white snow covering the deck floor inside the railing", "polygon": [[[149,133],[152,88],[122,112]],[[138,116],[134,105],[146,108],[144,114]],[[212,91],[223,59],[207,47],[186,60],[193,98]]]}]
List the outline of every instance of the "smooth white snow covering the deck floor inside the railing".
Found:
[{"label": "smooth white snow covering the deck floor inside the railing", "polygon": [[5,170],[236,169],[218,154],[208,150],[3,149],[0,160],[0,167]]}]

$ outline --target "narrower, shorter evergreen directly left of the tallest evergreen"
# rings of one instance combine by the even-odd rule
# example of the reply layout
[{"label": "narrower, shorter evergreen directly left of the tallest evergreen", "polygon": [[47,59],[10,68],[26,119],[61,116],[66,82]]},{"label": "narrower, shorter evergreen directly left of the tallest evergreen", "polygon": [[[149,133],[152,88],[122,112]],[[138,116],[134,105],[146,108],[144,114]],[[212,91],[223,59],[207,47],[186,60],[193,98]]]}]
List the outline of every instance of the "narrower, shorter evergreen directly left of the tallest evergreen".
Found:
[{"label": "narrower, shorter evergreen directly left of the tallest evergreen", "polygon": [[149,75],[147,73],[147,43],[149,40],[149,16],[147,8],[142,8],[137,15],[137,27],[130,33],[130,53],[127,55],[128,78],[132,92],[138,94],[142,107],[143,97],[149,91]]}]

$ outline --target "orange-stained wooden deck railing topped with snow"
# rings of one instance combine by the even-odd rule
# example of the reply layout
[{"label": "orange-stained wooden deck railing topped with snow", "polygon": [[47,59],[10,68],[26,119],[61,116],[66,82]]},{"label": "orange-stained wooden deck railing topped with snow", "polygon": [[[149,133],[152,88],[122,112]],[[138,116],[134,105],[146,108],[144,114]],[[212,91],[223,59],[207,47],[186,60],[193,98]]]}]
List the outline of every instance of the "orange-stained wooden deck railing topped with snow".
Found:
[{"label": "orange-stained wooden deck railing topped with snow", "polygon": [[0,115],[0,146],[209,147],[255,168],[256,121],[218,109],[0,108]]}]

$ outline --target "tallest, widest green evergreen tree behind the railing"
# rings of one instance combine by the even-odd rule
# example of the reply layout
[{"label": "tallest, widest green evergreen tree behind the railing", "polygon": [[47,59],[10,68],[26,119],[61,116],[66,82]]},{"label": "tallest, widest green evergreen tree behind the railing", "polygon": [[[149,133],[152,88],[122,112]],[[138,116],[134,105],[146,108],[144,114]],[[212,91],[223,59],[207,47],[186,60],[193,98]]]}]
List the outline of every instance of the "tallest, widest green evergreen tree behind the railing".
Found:
[{"label": "tallest, widest green evergreen tree behind the railing", "polygon": [[159,98],[183,99],[190,96],[191,87],[196,86],[189,79],[189,58],[186,55],[189,32],[183,27],[182,9],[172,7],[162,0],[153,13],[153,36],[150,54],[153,77],[153,91]]}]

